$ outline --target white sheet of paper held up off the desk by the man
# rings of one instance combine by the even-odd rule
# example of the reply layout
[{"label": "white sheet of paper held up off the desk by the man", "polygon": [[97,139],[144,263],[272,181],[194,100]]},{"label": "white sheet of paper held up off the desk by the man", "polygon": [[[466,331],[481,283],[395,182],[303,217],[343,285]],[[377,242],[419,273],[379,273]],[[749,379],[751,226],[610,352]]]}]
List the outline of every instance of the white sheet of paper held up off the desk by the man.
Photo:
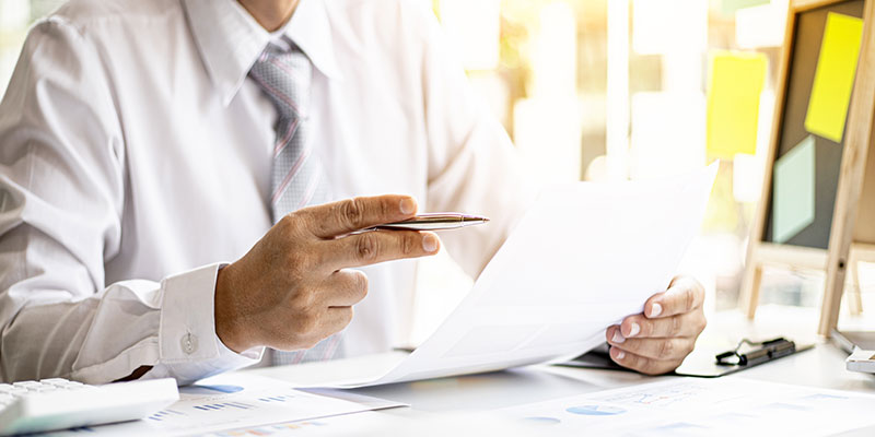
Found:
[{"label": "white sheet of paper held up off the desk by the man", "polygon": [[544,191],[431,338],[387,373],[332,386],[499,370],[595,347],[677,273],[716,170]]}]

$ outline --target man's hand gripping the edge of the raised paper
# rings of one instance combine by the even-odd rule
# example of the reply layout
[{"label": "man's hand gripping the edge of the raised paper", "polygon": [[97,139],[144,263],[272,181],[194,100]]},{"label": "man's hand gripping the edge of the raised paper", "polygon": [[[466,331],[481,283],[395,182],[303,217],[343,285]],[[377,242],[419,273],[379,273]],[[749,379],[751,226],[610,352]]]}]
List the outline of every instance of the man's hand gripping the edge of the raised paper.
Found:
[{"label": "man's hand gripping the edge of the raised paper", "polygon": [[627,317],[607,330],[610,357],[648,375],[680,366],[705,326],[704,290],[691,277],[675,277],[665,293],[644,304],[644,314]]}]

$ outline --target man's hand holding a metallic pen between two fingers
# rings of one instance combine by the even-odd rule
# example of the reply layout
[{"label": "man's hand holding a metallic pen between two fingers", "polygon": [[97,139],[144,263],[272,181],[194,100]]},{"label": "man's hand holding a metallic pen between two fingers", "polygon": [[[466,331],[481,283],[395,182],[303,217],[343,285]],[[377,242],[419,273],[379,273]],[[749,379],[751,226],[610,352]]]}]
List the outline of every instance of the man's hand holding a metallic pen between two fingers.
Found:
[{"label": "man's hand holding a metallic pen between two fingers", "polygon": [[357,198],[295,211],[277,223],[243,258],[219,271],[215,333],[235,352],[254,346],[313,347],[352,320],[368,294],[355,268],[438,252],[433,233],[366,232],[412,217],[406,196]]}]

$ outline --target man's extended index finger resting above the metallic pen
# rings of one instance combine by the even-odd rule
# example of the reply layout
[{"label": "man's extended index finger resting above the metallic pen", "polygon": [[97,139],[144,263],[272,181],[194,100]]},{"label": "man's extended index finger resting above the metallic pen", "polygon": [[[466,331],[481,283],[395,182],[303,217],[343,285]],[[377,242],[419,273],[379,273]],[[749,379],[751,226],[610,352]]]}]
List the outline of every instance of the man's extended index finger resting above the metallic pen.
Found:
[{"label": "man's extended index finger resting above the metallic pen", "polygon": [[319,238],[346,235],[384,223],[400,222],[417,213],[409,196],[386,194],[341,200],[300,210],[310,231]]}]

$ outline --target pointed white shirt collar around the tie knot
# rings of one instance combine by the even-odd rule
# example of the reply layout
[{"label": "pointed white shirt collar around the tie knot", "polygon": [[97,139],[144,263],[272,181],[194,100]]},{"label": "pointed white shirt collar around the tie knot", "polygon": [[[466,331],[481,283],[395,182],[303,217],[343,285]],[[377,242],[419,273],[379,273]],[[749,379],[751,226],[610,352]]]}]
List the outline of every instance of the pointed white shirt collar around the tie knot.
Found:
[{"label": "pointed white shirt collar around the tie knot", "polygon": [[[228,105],[273,36],[236,0],[183,0],[188,25],[207,70]],[[293,40],[316,69],[340,80],[324,0],[301,0],[280,34]]]}]

